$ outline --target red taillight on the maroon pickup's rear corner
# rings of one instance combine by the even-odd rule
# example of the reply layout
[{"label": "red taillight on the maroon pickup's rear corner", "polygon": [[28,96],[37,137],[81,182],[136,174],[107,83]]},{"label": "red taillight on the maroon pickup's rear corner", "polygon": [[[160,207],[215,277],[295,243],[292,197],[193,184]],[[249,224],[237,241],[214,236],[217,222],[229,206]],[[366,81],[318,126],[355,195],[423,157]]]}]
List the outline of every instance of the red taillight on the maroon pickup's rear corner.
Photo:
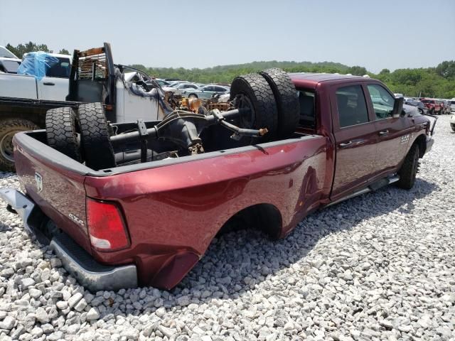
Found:
[{"label": "red taillight on the maroon pickup's rear corner", "polygon": [[92,247],[116,251],[129,247],[127,228],[117,205],[87,197],[87,225]]}]

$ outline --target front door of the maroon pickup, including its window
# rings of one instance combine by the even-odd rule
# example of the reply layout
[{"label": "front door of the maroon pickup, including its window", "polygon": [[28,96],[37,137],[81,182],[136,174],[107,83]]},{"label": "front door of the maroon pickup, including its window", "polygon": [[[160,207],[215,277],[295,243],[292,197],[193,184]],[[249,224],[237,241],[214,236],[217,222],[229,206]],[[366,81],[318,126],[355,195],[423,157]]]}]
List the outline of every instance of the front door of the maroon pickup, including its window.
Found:
[{"label": "front door of the maroon pickup, including its window", "polygon": [[375,173],[390,173],[400,164],[407,151],[410,134],[414,130],[406,117],[392,117],[395,97],[379,84],[368,84],[368,102],[373,108],[378,153]]}]

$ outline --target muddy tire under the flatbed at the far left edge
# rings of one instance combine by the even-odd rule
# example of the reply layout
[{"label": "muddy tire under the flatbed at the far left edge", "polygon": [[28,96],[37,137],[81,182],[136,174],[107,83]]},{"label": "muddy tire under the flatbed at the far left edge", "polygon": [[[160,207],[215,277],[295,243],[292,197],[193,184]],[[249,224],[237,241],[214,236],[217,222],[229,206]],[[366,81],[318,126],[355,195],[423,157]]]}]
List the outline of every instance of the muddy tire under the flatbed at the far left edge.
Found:
[{"label": "muddy tire under the flatbed at the far left edge", "polygon": [[0,121],[0,171],[14,172],[13,136],[19,131],[39,127],[27,119],[4,119]]}]

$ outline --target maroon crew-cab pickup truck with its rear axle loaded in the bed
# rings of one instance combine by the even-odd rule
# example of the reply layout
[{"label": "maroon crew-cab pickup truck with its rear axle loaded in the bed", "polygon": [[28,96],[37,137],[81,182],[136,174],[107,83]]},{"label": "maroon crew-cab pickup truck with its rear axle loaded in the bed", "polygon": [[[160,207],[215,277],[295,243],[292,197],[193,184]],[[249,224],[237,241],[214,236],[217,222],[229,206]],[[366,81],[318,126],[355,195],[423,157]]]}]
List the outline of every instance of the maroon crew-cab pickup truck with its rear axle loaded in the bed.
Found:
[{"label": "maroon crew-cab pickup truck with its rear axle loaded in the bed", "polygon": [[[185,155],[175,141],[156,138],[162,122],[113,124],[115,162],[94,169],[48,146],[45,130],[21,132],[14,137],[21,192],[1,189],[0,197],[96,291],[173,288],[231,224],[283,238],[321,207],[390,183],[412,188],[418,160],[433,144],[427,117],[378,80],[290,77],[299,121],[285,138],[272,131],[268,141],[239,144],[245,136],[229,139],[226,126],[207,126],[196,136],[198,152]],[[239,110],[225,114],[232,123],[229,115]],[[223,118],[209,111],[205,119]],[[149,136],[148,145],[133,135]],[[160,157],[139,162],[139,149]]]}]

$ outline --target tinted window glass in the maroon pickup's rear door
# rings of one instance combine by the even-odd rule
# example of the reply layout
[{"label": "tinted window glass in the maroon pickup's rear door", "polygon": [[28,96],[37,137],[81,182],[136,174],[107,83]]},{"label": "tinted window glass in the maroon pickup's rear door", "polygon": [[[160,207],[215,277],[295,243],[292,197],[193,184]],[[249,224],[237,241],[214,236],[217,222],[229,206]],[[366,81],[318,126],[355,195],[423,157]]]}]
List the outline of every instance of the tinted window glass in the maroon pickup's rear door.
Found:
[{"label": "tinted window glass in the maroon pickup's rear door", "polygon": [[369,121],[367,104],[361,85],[339,87],[336,90],[336,106],[341,128]]}]

